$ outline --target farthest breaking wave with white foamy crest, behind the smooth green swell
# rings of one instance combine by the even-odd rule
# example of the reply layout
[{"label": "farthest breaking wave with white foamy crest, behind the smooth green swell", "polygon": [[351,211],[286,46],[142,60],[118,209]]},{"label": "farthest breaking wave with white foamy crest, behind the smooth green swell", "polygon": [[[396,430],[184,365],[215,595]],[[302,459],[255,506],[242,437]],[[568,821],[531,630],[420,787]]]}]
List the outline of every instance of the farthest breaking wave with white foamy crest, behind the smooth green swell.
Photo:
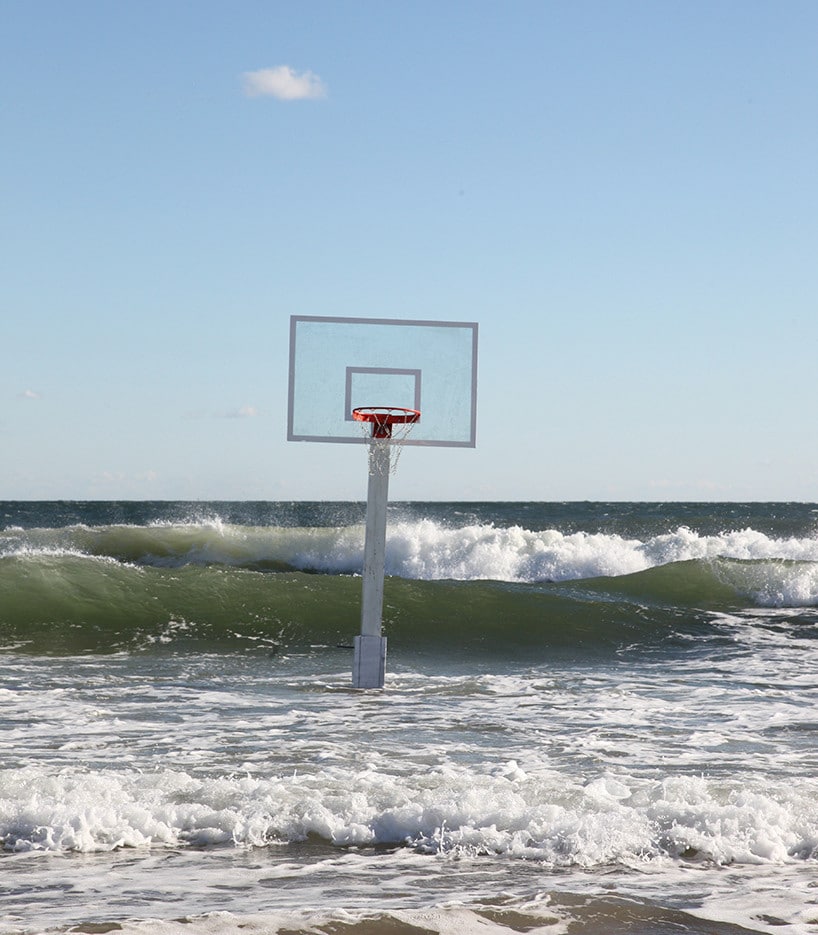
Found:
[{"label": "farthest breaking wave with white foamy crest, behind the smooth green swell", "polygon": [[[364,531],[341,527],[247,527],[217,520],[150,526],[7,529],[0,557],[87,554],[159,567],[281,566],[326,574],[359,573]],[[686,527],[645,540],[607,533],[532,531],[520,526],[451,527],[433,520],[388,527],[386,570],[403,578],[565,581],[633,574],[720,558],[818,563],[818,539],[774,538],[753,529],[701,535]],[[796,591],[803,591],[801,583]],[[810,594],[814,590],[810,589]]]}]

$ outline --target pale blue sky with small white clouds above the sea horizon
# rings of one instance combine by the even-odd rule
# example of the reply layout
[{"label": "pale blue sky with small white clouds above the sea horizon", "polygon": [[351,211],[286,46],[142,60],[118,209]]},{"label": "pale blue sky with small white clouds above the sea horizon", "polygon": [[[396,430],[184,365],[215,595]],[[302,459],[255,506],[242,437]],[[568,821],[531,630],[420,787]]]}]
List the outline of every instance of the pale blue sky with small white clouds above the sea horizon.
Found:
[{"label": "pale blue sky with small white clouds above the sea horizon", "polygon": [[814,0],[0,0],[0,499],[364,499],[286,440],[321,315],[479,324],[477,446],[392,499],[818,501],[816,48]]}]

